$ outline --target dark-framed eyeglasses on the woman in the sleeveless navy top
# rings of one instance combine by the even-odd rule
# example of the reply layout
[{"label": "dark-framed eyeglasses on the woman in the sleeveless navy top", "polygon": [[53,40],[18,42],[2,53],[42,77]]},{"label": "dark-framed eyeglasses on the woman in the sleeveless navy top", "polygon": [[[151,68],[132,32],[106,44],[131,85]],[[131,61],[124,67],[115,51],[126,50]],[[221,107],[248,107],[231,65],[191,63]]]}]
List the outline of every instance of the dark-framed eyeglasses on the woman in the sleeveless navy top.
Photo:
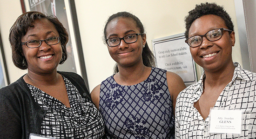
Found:
[{"label": "dark-framed eyeglasses on the woman in the sleeveless navy top", "polygon": [[138,35],[143,35],[144,33],[134,33],[134,34],[128,34],[124,36],[123,38],[108,38],[106,39],[106,43],[109,47],[114,47],[120,44],[121,40],[123,39],[125,43],[132,44],[135,43],[138,40]]}]

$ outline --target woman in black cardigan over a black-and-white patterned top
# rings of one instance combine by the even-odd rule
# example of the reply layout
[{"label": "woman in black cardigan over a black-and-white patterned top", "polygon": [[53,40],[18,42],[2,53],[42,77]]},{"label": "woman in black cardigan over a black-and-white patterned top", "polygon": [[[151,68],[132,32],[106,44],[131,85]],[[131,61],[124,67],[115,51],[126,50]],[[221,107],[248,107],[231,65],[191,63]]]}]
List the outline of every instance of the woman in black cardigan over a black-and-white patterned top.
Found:
[{"label": "woman in black cardigan over a black-and-white patterned top", "polygon": [[67,59],[67,30],[55,16],[23,13],[9,41],[27,74],[0,89],[0,139],[101,139],[104,122],[81,76],[57,71]]}]

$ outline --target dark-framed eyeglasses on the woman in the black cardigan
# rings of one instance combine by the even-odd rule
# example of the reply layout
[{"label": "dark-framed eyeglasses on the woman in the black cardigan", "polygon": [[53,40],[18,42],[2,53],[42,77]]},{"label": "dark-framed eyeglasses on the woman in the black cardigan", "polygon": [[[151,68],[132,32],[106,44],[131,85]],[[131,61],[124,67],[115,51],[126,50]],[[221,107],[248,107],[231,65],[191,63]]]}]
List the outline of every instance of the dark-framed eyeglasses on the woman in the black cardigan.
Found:
[{"label": "dark-framed eyeglasses on the woman in the black cardigan", "polygon": [[21,45],[27,45],[28,48],[37,48],[40,47],[42,44],[42,41],[45,41],[46,44],[48,45],[55,45],[60,42],[61,37],[50,37],[46,38],[44,40],[39,40],[39,39],[34,39],[34,40],[29,40],[27,42],[22,42]]}]

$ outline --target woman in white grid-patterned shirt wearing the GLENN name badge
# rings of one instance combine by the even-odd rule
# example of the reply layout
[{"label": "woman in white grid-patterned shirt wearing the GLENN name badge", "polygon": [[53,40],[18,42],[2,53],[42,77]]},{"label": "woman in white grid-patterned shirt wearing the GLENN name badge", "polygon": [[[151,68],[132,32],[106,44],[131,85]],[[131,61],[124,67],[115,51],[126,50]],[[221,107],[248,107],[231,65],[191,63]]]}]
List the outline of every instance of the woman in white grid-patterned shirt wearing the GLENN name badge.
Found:
[{"label": "woman in white grid-patterned shirt wearing the GLENN name badge", "polygon": [[185,18],[186,43],[204,72],[177,97],[177,139],[256,139],[256,74],[233,63],[234,25],[215,3]]}]

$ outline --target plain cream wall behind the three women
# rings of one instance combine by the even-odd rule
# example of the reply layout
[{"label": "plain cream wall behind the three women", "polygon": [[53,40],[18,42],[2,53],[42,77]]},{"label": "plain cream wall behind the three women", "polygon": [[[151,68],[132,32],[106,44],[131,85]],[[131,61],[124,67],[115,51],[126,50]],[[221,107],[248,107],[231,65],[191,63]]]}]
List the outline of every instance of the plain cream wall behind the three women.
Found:
[{"label": "plain cream wall behind the three women", "polygon": [[[205,1],[224,6],[237,31],[234,0],[75,0],[90,91],[113,74],[115,61],[109,56],[102,40],[104,25],[110,15],[121,11],[135,14],[145,27],[147,42],[152,50],[152,39],[184,32],[184,17],[195,4]],[[21,13],[20,0],[0,0],[0,32],[11,82],[26,73],[26,70],[14,67],[8,43],[9,29]],[[237,33],[233,54],[236,54],[233,61],[243,65]]]}]

